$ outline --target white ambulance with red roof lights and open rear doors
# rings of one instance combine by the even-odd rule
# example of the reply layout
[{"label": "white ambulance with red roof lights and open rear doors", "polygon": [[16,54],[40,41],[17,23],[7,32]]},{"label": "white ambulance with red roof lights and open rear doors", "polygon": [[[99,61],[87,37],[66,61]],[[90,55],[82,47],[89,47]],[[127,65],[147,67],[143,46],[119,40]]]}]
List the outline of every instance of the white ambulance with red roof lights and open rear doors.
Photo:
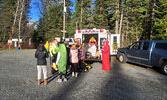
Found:
[{"label": "white ambulance with red roof lights and open rear doors", "polygon": [[111,34],[109,30],[106,29],[84,29],[76,30],[74,38],[79,39],[81,43],[88,44],[89,40],[94,37],[97,42],[97,49],[102,48],[103,40],[109,41],[110,45],[110,55],[116,55],[117,49],[120,47],[120,35]]}]

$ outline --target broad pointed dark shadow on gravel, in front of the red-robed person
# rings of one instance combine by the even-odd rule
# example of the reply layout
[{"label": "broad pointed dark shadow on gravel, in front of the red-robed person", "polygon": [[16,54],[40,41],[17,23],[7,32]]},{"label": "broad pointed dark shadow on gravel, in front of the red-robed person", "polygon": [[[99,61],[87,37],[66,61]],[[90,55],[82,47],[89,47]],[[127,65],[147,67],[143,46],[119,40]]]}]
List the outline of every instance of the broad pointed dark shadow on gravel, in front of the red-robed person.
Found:
[{"label": "broad pointed dark shadow on gravel, in front of the red-robed person", "polygon": [[110,78],[107,84],[102,87],[103,100],[137,100],[137,88],[129,76],[124,73],[121,65],[116,59],[112,61]]}]

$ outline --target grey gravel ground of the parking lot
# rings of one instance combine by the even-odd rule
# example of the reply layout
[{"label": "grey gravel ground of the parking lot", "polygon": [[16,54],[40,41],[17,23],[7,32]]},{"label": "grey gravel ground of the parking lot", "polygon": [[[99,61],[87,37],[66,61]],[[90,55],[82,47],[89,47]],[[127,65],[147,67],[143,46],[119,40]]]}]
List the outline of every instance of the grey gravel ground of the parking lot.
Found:
[{"label": "grey gravel ground of the parking lot", "polygon": [[[111,71],[92,64],[89,72],[48,85],[37,85],[35,50],[2,51],[0,54],[0,100],[167,100],[167,76],[154,69],[121,64],[112,57]],[[49,64],[48,64],[49,66]]]}]

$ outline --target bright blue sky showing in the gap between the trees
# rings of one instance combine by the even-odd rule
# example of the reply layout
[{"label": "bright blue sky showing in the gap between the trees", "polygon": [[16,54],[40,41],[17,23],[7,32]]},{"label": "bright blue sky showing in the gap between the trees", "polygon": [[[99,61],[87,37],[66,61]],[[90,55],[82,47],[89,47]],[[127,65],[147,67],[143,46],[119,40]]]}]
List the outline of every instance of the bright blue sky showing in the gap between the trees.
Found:
[{"label": "bright blue sky showing in the gap between the trees", "polygon": [[[75,3],[75,0],[71,0],[73,3]],[[41,17],[40,14],[40,0],[32,0],[31,1],[31,9],[30,9],[30,20],[33,21],[38,21],[39,18]],[[72,9],[74,9],[74,6],[72,7]]]}]

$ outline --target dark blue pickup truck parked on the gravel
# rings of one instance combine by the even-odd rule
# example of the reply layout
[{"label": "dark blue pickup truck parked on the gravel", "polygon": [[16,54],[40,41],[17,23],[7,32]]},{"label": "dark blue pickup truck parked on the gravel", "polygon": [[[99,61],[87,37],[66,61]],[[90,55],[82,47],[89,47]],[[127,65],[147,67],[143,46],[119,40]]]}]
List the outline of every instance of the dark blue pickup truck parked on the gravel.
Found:
[{"label": "dark blue pickup truck parked on the gravel", "polygon": [[167,40],[134,42],[128,47],[119,48],[117,58],[121,63],[160,67],[167,75]]}]

